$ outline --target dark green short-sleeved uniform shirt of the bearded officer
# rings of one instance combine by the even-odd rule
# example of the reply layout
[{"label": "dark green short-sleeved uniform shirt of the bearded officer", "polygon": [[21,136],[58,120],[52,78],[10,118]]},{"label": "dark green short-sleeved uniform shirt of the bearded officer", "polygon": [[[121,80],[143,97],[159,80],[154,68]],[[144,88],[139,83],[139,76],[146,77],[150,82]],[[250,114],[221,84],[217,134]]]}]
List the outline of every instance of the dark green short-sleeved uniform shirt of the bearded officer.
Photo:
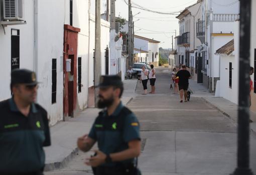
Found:
[{"label": "dark green short-sleeved uniform shirt of the bearded officer", "polygon": [[[100,112],[89,132],[89,137],[97,141],[99,150],[106,154],[123,151],[129,148],[129,141],[141,139],[138,119],[127,108],[125,111],[130,112],[122,113],[122,115],[123,108],[125,107],[120,102],[111,116],[107,116],[106,110]],[[133,162],[133,160],[123,162]],[[103,165],[114,166],[116,163]]]}]

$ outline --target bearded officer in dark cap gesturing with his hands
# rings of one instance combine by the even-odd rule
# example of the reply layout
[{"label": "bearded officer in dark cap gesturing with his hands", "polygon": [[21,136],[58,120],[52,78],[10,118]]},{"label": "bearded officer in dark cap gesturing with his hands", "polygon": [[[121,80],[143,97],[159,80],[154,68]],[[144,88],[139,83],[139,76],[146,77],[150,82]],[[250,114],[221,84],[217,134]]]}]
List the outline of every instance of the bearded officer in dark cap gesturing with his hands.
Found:
[{"label": "bearded officer in dark cap gesturing with his hands", "polygon": [[122,105],[121,78],[117,75],[101,76],[98,108],[103,108],[95,119],[89,134],[79,137],[77,145],[89,151],[97,141],[95,155],[86,164],[94,174],[140,174],[137,157],[141,152],[140,124],[135,114]]}]

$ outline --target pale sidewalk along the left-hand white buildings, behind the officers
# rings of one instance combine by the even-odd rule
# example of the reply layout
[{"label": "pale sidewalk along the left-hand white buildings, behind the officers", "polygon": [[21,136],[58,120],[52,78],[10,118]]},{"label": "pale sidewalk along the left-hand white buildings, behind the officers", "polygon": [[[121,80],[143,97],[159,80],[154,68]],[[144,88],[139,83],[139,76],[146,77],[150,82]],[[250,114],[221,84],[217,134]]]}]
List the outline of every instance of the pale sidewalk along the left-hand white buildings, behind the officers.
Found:
[{"label": "pale sidewalk along the left-hand white buildings, behind the officers", "polygon": [[[137,80],[124,80],[123,83],[124,92],[121,100],[126,105],[135,96]],[[45,171],[64,167],[76,155],[78,152],[77,138],[89,132],[99,111],[96,108],[85,109],[79,116],[50,128],[52,145],[44,148],[46,153]]]}]

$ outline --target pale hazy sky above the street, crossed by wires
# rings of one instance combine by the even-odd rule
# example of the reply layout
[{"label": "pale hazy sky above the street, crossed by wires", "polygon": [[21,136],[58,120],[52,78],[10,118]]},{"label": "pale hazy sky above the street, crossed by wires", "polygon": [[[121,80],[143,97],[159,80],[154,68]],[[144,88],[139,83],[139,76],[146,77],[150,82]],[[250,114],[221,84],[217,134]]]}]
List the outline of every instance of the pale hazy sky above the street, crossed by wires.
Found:
[{"label": "pale hazy sky above the street, crossed by wires", "polygon": [[[102,3],[104,4],[105,1],[102,0]],[[115,15],[128,20],[128,6],[124,1],[115,1]],[[197,0],[132,0],[132,6],[135,3],[153,11],[172,13],[182,11],[196,2]],[[160,41],[160,47],[165,49],[172,48],[172,35],[174,38],[175,30],[177,30],[177,36],[179,35],[179,24],[175,15],[161,15],[136,8],[132,8],[132,12],[135,15],[136,35],[154,38],[154,40]],[[136,15],[139,12],[140,14]],[[137,21],[138,19],[140,20]]]}]

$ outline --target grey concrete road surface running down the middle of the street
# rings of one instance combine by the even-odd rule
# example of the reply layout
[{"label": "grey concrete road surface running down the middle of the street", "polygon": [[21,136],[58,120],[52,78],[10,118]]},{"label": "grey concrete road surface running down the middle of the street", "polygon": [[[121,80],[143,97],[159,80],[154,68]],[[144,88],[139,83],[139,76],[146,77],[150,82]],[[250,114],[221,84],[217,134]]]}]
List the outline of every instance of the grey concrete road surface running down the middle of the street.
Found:
[{"label": "grey concrete road surface running down the middle of the street", "polygon": [[[141,123],[143,151],[139,166],[146,175],[224,175],[236,166],[236,127],[199,97],[179,103],[170,87],[170,72],[157,69],[154,95],[137,96],[129,103]],[[251,167],[256,172],[256,139],[251,138]],[[81,153],[62,170],[50,174],[91,174]]]}]

